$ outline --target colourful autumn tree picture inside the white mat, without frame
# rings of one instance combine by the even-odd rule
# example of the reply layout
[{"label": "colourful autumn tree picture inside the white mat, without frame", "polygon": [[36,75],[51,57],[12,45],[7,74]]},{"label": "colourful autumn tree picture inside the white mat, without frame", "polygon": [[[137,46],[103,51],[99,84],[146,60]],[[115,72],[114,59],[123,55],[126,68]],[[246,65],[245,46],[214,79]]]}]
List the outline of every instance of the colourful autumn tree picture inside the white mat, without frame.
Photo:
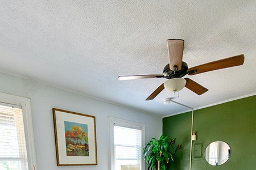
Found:
[{"label": "colourful autumn tree picture inside the white mat, without frame", "polygon": [[86,124],[64,121],[67,156],[89,156]]}]

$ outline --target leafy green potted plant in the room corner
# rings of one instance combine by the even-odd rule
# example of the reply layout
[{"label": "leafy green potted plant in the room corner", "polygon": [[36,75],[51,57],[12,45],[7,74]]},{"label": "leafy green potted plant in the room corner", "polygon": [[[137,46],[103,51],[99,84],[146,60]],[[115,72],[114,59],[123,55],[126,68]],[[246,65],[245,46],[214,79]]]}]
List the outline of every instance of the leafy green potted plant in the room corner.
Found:
[{"label": "leafy green potted plant in the room corner", "polygon": [[[143,148],[144,159],[146,159],[149,165],[148,169],[165,170],[170,159],[174,161],[173,156],[175,152],[181,148],[181,145],[177,145],[174,148],[172,146],[174,143],[175,139],[171,139],[166,134],[162,134],[159,140],[151,138]],[[171,149],[173,150],[172,152]]]}]

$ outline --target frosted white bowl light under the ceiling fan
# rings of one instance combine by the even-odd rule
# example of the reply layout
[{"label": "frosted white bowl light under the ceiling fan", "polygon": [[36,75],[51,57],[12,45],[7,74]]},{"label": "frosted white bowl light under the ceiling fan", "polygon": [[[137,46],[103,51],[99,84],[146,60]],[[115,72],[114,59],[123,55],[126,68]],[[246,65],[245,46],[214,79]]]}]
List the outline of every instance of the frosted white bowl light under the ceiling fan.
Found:
[{"label": "frosted white bowl light under the ceiling fan", "polygon": [[178,92],[183,89],[186,82],[183,78],[172,78],[164,82],[164,88],[170,92]]}]

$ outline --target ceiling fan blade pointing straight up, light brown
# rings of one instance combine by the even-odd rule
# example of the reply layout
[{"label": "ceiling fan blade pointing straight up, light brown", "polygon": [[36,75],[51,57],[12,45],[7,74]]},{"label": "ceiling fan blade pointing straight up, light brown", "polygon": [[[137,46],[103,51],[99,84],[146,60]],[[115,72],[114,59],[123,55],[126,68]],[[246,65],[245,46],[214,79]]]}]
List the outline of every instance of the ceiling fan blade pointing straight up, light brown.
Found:
[{"label": "ceiling fan blade pointing straight up, light brown", "polygon": [[[167,40],[167,47],[170,59],[170,69],[179,71],[182,66],[184,40],[169,39]],[[174,66],[177,67],[177,70],[174,70]]]}]

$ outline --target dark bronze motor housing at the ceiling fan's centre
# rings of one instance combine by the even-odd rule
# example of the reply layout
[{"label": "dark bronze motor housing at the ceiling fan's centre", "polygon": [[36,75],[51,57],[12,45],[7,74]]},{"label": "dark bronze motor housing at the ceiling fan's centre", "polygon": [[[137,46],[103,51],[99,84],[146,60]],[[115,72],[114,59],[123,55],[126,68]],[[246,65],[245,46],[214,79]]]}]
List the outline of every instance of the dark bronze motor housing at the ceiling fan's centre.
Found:
[{"label": "dark bronze motor housing at the ceiling fan's centre", "polygon": [[171,79],[171,78],[181,78],[185,75],[185,73],[187,73],[188,71],[188,65],[187,63],[185,63],[184,61],[182,62],[182,66],[181,66],[181,69],[178,70],[178,71],[172,71],[170,69],[170,64],[167,64],[165,67],[164,67],[164,70],[163,70],[163,75],[167,78],[167,79]]}]

